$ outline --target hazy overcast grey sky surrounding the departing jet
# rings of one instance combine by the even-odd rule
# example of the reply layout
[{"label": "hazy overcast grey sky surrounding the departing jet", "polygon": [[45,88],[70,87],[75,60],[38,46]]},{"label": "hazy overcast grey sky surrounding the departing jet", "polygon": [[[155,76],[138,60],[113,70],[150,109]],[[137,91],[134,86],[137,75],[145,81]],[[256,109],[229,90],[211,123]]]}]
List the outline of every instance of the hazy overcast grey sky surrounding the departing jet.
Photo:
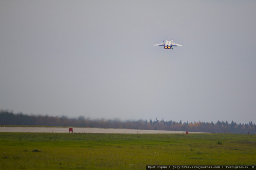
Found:
[{"label": "hazy overcast grey sky surrounding the departing jet", "polygon": [[[255,0],[1,0],[0,109],[256,123]],[[153,46],[171,38],[183,47]]]}]

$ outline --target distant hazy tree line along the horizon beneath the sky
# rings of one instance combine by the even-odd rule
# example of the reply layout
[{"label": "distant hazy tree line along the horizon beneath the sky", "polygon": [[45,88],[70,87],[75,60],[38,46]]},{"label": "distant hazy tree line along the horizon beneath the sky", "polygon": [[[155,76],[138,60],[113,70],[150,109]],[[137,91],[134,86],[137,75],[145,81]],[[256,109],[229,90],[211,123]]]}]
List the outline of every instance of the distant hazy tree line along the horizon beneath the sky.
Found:
[{"label": "distant hazy tree line along the horizon beneath the sky", "polygon": [[250,133],[256,134],[256,125],[253,122],[241,124],[232,121],[209,122],[180,122],[158,120],[157,118],[148,122],[147,120],[120,119],[90,119],[84,116],[79,118],[68,118],[67,116],[42,116],[28,115],[24,113],[13,113],[12,111],[0,110],[0,125],[40,125],[40,126],[69,126],[69,127],[100,127],[100,128],[127,128],[145,130],[175,130],[210,133]]}]

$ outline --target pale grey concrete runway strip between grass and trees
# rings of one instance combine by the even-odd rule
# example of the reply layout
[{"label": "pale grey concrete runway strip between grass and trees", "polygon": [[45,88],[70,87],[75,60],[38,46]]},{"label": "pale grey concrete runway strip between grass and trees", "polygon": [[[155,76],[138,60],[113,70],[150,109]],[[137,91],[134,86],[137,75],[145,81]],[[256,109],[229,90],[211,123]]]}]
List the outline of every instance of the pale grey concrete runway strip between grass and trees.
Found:
[{"label": "pale grey concrete runway strip between grass and trees", "polygon": [[[184,131],[170,131],[170,130],[104,129],[104,128],[90,128],[90,127],[0,127],[0,132],[68,133],[69,128],[73,128],[73,133],[126,133],[126,134],[186,133]],[[189,133],[201,133],[201,132],[189,132]]]}]

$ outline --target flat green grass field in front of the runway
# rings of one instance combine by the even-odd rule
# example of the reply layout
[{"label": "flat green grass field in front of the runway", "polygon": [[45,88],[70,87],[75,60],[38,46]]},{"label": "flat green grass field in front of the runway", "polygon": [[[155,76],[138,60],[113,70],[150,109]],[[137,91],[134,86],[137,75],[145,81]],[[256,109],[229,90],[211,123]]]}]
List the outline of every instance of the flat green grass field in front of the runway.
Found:
[{"label": "flat green grass field in front of the runway", "polygon": [[0,170],[256,164],[256,135],[0,133]]}]

